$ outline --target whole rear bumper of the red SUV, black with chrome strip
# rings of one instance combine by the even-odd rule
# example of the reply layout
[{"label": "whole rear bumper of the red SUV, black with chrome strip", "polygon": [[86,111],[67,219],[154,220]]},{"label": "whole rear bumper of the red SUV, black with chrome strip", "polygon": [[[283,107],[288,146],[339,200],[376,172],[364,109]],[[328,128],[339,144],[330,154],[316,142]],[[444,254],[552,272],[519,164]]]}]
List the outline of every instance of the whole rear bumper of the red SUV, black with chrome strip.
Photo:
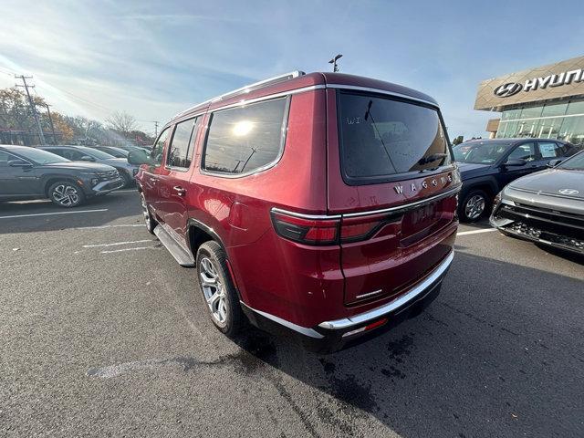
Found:
[{"label": "whole rear bumper of the red SUV, black with chrome strip", "polygon": [[[276,334],[292,335],[299,338],[304,346],[312,351],[321,353],[337,351],[378,336],[403,320],[417,316],[439,295],[443,277],[448,272],[453,259],[454,252],[451,252],[414,287],[379,308],[373,308],[350,318],[323,321],[312,328],[301,327],[285,319],[255,310],[243,302],[242,307],[250,321],[258,328]],[[381,323],[381,325],[365,329],[374,323]]]}]

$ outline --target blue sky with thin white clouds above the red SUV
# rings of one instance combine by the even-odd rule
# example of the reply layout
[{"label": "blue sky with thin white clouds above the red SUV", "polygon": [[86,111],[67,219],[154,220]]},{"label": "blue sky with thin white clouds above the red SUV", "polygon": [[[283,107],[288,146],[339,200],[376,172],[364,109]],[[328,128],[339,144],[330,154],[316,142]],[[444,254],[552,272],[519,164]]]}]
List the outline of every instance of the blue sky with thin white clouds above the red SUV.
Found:
[{"label": "blue sky with thin white clouds above the red SUV", "polygon": [[438,100],[451,138],[486,136],[482,80],[584,55],[581,3],[0,0],[0,88],[32,75],[53,110],[153,132],[193,104],[292,70]]}]

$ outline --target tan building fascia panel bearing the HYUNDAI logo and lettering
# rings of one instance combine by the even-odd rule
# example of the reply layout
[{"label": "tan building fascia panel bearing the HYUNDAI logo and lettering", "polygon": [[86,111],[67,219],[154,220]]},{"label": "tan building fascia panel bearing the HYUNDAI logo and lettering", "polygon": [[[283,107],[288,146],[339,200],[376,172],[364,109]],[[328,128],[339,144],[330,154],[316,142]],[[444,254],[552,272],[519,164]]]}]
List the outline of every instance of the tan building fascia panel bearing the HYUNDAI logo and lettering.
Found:
[{"label": "tan building fascia panel bearing the HYUNDAI logo and lettering", "polygon": [[584,57],[484,80],[476,94],[475,110],[566,99],[584,95]]}]

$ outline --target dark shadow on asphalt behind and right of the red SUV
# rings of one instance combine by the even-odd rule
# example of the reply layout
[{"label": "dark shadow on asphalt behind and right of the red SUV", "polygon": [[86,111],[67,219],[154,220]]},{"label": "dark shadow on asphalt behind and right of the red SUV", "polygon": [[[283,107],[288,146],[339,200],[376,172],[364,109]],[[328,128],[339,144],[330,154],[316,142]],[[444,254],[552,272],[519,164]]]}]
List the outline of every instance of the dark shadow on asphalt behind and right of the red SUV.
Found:
[{"label": "dark shadow on asphalt behind and right of the red SUV", "polygon": [[343,435],[368,412],[404,437],[584,436],[583,283],[485,260],[459,253],[430,308],[368,343],[318,356],[253,329],[242,360],[328,394],[304,422]]}]

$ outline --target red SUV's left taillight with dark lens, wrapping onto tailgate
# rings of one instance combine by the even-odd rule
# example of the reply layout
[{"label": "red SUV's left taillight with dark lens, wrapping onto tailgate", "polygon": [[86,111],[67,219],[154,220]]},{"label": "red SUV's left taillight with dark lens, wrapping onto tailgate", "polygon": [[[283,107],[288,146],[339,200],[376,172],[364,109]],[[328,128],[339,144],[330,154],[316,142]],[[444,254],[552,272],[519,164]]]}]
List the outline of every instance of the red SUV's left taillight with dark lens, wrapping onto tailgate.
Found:
[{"label": "red SUV's left taillight with dark lens, wrapping onto tailgate", "polygon": [[358,217],[300,216],[281,210],[272,210],[276,233],[294,242],[306,245],[339,245],[366,240],[385,224],[399,220],[399,216],[374,214]]}]

